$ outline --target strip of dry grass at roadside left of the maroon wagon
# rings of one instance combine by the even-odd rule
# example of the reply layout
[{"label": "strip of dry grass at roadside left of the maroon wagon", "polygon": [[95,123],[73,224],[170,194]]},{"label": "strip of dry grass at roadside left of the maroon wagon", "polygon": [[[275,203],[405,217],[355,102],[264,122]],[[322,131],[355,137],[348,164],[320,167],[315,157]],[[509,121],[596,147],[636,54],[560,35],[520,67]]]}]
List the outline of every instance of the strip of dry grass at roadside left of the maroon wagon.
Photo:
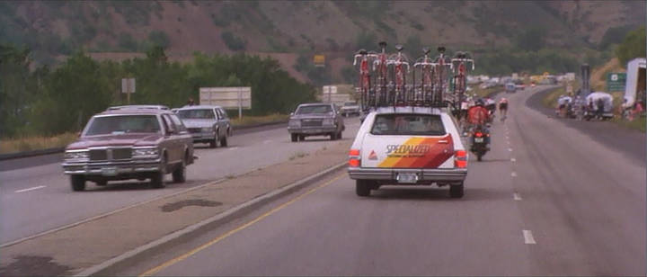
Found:
[{"label": "strip of dry grass at roadside left of the maroon wagon", "polygon": [[64,133],[52,137],[32,136],[0,139],[0,154],[66,147],[75,139],[77,139],[75,133]]}]

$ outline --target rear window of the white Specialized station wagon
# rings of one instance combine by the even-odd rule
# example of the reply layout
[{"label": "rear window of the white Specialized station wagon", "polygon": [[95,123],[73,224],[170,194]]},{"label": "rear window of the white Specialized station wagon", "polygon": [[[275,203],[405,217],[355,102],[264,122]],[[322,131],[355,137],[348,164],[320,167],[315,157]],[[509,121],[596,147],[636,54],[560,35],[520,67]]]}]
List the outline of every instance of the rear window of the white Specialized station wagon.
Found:
[{"label": "rear window of the white Specialized station wagon", "polygon": [[378,114],[371,134],[442,136],[446,131],[438,114]]}]

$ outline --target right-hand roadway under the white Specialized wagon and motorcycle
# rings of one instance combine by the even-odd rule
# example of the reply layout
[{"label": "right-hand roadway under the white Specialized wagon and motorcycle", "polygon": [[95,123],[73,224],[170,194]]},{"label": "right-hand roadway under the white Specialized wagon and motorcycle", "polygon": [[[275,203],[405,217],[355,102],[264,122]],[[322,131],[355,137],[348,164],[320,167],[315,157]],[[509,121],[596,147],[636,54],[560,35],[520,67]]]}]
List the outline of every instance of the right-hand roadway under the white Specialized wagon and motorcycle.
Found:
[{"label": "right-hand roadway under the white Specialized wagon and motorcycle", "polygon": [[340,173],[120,274],[644,275],[644,159],[528,108],[538,90],[506,95],[463,199],[394,186],[359,198]]}]

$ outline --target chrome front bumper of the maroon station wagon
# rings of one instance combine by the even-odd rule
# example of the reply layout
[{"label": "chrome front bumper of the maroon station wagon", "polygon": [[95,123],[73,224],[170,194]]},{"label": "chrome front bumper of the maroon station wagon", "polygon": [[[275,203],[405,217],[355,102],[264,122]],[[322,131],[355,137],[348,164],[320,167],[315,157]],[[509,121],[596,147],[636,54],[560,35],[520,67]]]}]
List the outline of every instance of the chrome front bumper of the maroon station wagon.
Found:
[{"label": "chrome front bumper of the maroon station wagon", "polygon": [[65,174],[116,176],[121,174],[151,173],[160,171],[160,161],[129,161],[120,163],[64,163]]}]

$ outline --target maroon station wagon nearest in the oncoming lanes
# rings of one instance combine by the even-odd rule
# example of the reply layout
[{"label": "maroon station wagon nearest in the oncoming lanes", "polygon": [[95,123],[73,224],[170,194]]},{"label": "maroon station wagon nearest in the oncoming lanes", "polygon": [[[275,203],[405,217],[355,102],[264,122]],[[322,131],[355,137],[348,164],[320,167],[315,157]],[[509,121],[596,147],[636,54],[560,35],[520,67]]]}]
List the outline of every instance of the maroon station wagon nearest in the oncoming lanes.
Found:
[{"label": "maroon station wagon nearest in the oncoming lanes", "polygon": [[164,187],[164,175],[173,182],[186,180],[186,165],[193,164],[191,135],[173,113],[159,109],[122,109],[94,115],[79,139],[66,147],[63,170],[73,191],[86,181],[150,179]]}]

